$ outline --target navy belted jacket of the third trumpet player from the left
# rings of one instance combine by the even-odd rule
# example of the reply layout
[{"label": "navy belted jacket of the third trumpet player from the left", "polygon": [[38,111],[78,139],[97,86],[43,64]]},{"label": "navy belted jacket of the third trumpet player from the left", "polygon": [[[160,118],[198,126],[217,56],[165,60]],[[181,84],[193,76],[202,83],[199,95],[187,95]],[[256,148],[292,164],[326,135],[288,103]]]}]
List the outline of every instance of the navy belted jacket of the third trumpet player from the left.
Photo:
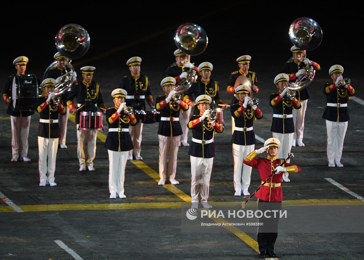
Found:
[{"label": "navy belted jacket of the third trumpet player from the left", "polygon": [[174,118],[179,117],[179,111],[187,111],[188,105],[181,100],[178,104],[171,100],[170,102],[166,103],[167,95],[160,95],[155,100],[158,111],[161,112],[161,117],[169,117],[171,118],[170,121],[160,121],[159,128],[158,128],[158,135],[163,136],[179,136],[182,135],[182,128],[179,121],[173,121]]}]

